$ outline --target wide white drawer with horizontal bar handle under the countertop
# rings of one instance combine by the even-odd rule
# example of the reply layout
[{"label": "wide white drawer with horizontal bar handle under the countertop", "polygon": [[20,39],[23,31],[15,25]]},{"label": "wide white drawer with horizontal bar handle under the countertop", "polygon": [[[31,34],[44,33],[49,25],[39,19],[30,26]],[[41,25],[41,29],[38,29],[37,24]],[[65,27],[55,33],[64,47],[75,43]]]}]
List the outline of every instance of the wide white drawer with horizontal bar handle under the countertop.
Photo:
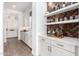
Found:
[{"label": "wide white drawer with horizontal bar handle under the countertop", "polygon": [[75,53],[75,46],[73,46],[73,45],[66,44],[66,43],[59,42],[59,41],[52,41],[51,45],[57,46],[59,48],[65,49],[69,52]]}]

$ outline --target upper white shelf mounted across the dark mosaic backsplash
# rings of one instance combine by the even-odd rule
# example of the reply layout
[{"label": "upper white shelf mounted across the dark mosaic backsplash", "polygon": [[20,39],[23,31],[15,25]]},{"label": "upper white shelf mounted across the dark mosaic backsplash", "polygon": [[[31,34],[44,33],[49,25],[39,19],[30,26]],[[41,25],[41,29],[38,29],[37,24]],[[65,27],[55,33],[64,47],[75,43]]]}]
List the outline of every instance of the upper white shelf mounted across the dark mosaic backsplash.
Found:
[{"label": "upper white shelf mounted across the dark mosaic backsplash", "polygon": [[73,9],[76,9],[76,8],[79,8],[79,3],[75,3],[75,4],[69,5],[69,6],[67,6],[67,7],[58,9],[58,10],[56,10],[56,11],[47,13],[47,14],[45,14],[45,16],[46,16],[46,17],[48,17],[48,16],[53,16],[53,15],[56,15],[56,14],[59,14],[59,13],[63,13],[63,12],[66,12],[66,11],[70,11],[70,10],[73,10]]}]

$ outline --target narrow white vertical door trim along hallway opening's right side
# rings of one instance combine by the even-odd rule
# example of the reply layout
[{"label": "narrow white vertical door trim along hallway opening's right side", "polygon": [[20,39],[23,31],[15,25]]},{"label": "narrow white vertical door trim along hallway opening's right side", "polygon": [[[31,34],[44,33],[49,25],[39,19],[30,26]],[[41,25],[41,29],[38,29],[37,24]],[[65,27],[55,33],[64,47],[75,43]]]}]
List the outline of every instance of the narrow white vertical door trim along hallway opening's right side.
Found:
[{"label": "narrow white vertical door trim along hallway opening's right side", "polygon": [[32,54],[36,55],[36,3],[32,3]]}]

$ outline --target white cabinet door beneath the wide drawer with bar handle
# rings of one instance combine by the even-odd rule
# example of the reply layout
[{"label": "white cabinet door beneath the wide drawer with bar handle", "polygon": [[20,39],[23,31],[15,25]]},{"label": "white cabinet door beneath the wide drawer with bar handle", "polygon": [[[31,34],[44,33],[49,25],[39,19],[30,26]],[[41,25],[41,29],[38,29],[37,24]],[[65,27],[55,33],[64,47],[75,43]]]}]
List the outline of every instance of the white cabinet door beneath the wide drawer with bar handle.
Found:
[{"label": "white cabinet door beneath the wide drawer with bar handle", "polygon": [[56,46],[52,46],[52,52],[51,52],[52,56],[74,56],[73,53],[63,50],[61,48],[58,48]]}]

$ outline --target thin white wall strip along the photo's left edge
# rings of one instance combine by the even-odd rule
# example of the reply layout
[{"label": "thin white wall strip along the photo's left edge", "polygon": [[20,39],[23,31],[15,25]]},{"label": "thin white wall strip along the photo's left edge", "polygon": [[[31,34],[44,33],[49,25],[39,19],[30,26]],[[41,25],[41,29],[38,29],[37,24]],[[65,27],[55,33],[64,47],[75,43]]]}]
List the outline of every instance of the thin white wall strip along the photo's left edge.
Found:
[{"label": "thin white wall strip along the photo's left edge", "polygon": [[3,3],[0,2],[0,56],[3,55]]}]

